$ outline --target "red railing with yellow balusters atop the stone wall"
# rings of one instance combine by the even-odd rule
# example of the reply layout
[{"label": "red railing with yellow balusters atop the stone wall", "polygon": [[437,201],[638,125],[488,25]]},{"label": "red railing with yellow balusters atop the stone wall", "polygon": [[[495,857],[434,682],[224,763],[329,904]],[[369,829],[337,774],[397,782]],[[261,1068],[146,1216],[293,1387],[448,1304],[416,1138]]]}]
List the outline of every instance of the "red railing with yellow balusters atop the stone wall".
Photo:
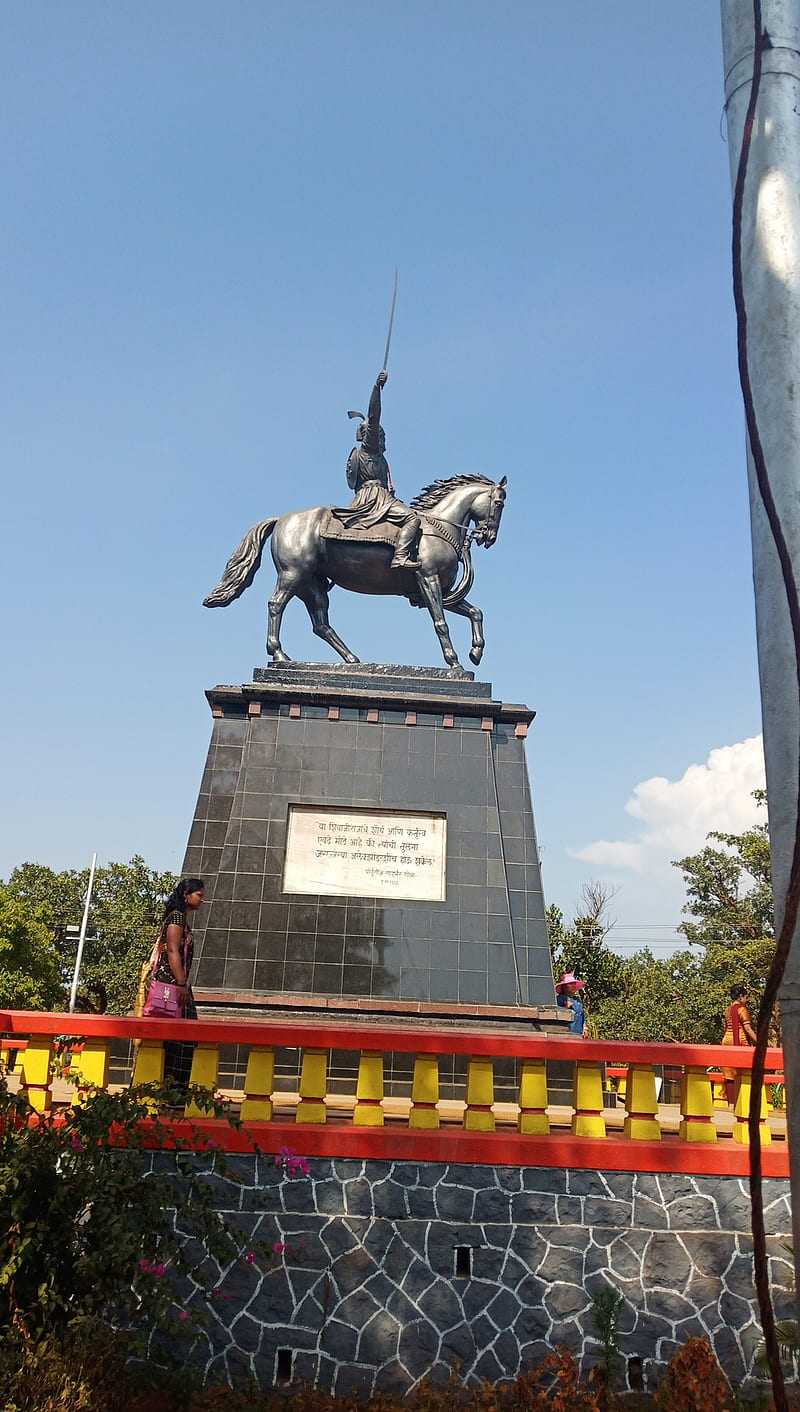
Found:
[{"label": "red railing with yellow balusters atop the stone wall", "polygon": [[[24,1043],[14,1082],[40,1110],[71,1101],[69,1090],[54,1079],[54,1042],[59,1036],[79,1036],[79,1049],[68,1046],[75,1069],[85,1083],[99,1087],[109,1084],[111,1046],[124,1049],[126,1042],[138,1041],[133,1073],[123,1067],[121,1082],[144,1083],[164,1073],[164,1041],[190,1039],[196,1045],[192,1080],[217,1090],[220,1048],[230,1053],[236,1046],[238,1073],[224,1091],[238,1107],[244,1134],[207,1120],[192,1104],[186,1108],[188,1118],[230,1149],[244,1149],[251,1134],[264,1151],[288,1145],[327,1156],[731,1175],[746,1175],[749,1165],[749,1049],[610,1043],[377,1019],[186,1024],[38,1011],[0,1012],[0,1032],[4,1052],[14,1052],[16,1039]],[[343,1053],[350,1056],[343,1072],[350,1072],[351,1082],[344,1077],[336,1084],[332,1056]],[[409,1056],[405,1063],[402,1056]],[[450,1076],[447,1096],[440,1082],[443,1059]],[[737,1070],[732,1113],[715,1083],[721,1066]],[[659,1101],[657,1079],[665,1067],[679,1076],[677,1103]],[[556,1069],[562,1083],[564,1075],[571,1076],[569,1091],[554,1091]],[[782,1073],[782,1051],[768,1052],[768,1069]],[[499,1097],[497,1070],[505,1094]],[[392,1075],[389,1094],[387,1072]],[[624,1107],[611,1107],[610,1075],[624,1089]],[[349,1091],[336,1093],[337,1086],[349,1086]],[[765,1094],[768,1176],[789,1175],[784,1138],[783,1114],[768,1114]]]}]

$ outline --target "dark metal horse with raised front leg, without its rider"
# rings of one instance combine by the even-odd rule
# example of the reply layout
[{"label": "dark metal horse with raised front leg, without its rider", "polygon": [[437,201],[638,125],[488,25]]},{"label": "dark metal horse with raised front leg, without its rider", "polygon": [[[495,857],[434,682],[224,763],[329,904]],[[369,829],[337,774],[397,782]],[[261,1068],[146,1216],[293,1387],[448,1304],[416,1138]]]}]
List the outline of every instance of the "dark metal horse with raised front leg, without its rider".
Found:
[{"label": "dark metal horse with raised front leg, without its rider", "polygon": [[[505,504],[505,481],[487,476],[451,476],[435,480],[411,501],[419,514],[422,532],[416,568],[391,568],[392,530],[380,524],[372,530],[346,530],[326,505],[271,515],[244,535],[233,551],[226,570],[203,603],[209,609],[226,607],[250,587],[261,563],[261,554],[272,537],[272,559],[278,570],[275,592],[269,599],[267,651],[272,661],[288,662],[281,647],[281,618],[289,599],[301,599],[312,620],[313,631],[346,662],[358,658],[341,641],[327,618],[329,590],[339,585],[353,593],[396,594],[416,607],[426,607],[453,674],[463,671],[444,609],[468,617],[473,624],[470,659],[480,662],[484,651],[483,613],[467,602],[473,585],[470,544],[490,548],[497,539]],[[474,525],[474,530],[470,530]],[[459,583],[459,565],[463,575]]]}]

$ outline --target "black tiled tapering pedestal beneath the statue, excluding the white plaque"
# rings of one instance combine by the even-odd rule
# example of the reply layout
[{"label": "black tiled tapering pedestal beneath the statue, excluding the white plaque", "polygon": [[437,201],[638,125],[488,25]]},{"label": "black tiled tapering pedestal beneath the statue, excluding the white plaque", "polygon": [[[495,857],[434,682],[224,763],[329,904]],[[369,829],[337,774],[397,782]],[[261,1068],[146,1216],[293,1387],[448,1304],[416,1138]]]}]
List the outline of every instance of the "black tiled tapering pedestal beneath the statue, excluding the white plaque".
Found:
[{"label": "black tiled tapering pedestal beneath the statue, excluding the white plaque", "polygon": [[[554,1004],[525,736],[447,671],[284,664],[207,699],[185,874],[206,880],[195,987],[220,1003]],[[446,815],[446,899],[284,891],[292,805]]]}]

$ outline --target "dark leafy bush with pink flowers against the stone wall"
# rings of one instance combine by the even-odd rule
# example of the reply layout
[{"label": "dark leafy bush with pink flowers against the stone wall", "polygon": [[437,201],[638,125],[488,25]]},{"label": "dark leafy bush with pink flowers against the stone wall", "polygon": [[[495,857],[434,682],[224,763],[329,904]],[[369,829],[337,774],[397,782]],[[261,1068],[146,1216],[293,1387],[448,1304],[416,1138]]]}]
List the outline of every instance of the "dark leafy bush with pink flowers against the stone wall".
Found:
[{"label": "dark leafy bush with pink flowers against the stone wall", "polygon": [[[213,1094],[190,1093],[240,1127]],[[199,1317],[174,1292],[175,1278],[198,1281],[188,1250],[223,1267],[253,1262],[255,1251],[272,1258],[261,1243],[246,1254],[253,1243],[214,1209],[207,1178],[240,1180],[226,1154],[195,1125],[179,1137],[152,1117],[154,1104],[176,1099],[157,1086],[90,1090],[66,1113],[38,1114],[0,1080],[0,1337],[62,1336],[86,1320],[179,1332]],[[174,1161],[151,1163],[144,1144],[154,1137]]]}]

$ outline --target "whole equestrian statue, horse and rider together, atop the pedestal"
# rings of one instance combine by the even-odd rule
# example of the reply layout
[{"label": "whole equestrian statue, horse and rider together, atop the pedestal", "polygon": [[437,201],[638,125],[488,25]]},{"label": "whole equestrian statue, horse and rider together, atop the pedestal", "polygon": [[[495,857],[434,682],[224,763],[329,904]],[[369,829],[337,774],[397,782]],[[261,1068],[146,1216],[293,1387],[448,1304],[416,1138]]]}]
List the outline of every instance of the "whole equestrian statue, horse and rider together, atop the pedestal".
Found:
[{"label": "whole equestrian statue, horse and rider together, atop the pedestal", "polygon": [[444,609],[470,618],[470,661],[477,665],[484,635],[483,613],[467,600],[474,578],[470,545],[494,544],[507,477],[495,483],[487,476],[450,476],[426,486],[409,505],[398,500],[381,426],[381,390],[387,377],[384,367],[365,418],[349,414],[360,418],[357,445],[347,460],[347,484],[354,491],[350,504],[316,505],[262,520],[247,531],[220,583],[203,602],[217,609],[240,597],[253,583],[271,538],[278,582],[269,599],[267,651],[274,662],[289,661],[281,647],[281,620],[292,597],[305,603],[317,637],[346,662],[358,661],[329,623],[329,592],[337,585],[353,593],[406,597],[415,607],[426,607],[444,661],[453,675],[463,675]]}]

